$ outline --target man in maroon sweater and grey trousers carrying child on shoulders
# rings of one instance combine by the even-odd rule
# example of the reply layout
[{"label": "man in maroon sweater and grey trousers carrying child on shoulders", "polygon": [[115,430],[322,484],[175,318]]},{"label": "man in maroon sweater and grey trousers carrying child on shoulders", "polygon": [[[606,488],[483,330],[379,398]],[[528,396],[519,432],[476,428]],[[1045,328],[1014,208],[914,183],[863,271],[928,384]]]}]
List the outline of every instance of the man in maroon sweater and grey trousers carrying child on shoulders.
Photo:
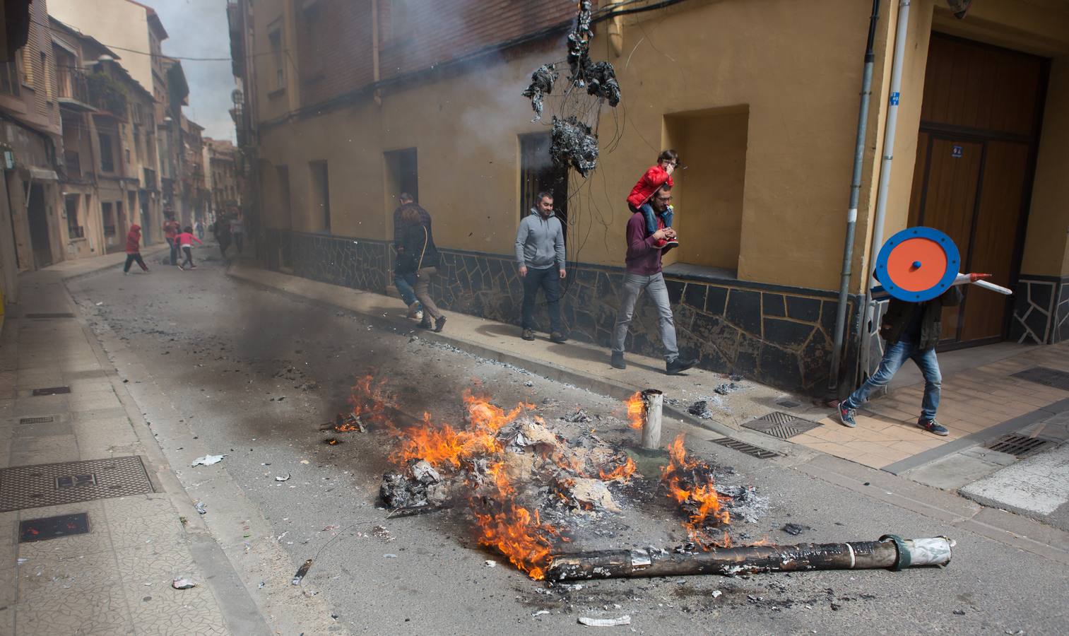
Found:
[{"label": "man in maroon sweater and grey trousers carrying child on shoulders", "polygon": [[[654,192],[650,200],[654,213],[661,218],[671,203],[671,187],[664,185]],[[653,304],[656,305],[660,319],[657,328],[661,331],[661,342],[664,345],[665,373],[675,375],[694,367],[694,360],[680,357],[676,344],[676,323],[672,320],[671,303],[668,299],[668,288],[665,285],[661,269],[661,255],[664,252],[662,241],[672,241],[676,232],[662,226],[656,232],[646,235],[646,219],[641,212],[635,212],[628,220],[626,242],[628,255],[625,274],[623,275],[623,296],[620,298],[620,310],[616,314],[616,325],[613,327],[613,359],[617,369],[626,369],[623,360],[623,343],[628,337],[628,327],[635,311],[635,301],[645,290]]]}]

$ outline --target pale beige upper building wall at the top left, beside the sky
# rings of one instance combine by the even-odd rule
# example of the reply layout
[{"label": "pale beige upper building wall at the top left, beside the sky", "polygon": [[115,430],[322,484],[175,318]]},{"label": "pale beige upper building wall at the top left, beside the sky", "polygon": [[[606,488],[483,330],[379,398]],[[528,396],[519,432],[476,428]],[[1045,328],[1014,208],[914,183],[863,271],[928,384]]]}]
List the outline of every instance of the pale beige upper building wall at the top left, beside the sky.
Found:
[{"label": "pale beige upper building wall at the top left, beside the sky", "polygon": [[[221,10],[220,10],[221,11]],[[56,19],[92,35],[106,46],[149,51],[149,14],[127,0],[48,0],[48,13]],[[122,65],[144,90],[152,92],[152,58],[115,51]]]}]

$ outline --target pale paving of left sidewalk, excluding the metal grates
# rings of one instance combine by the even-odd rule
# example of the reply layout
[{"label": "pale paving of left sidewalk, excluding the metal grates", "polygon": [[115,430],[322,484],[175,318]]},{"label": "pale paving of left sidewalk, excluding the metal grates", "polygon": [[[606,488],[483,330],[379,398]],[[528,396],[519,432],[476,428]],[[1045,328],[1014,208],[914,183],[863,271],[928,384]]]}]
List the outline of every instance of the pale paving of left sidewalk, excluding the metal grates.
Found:
[{"label": "pale paving of left sidewalk, excluding the metal grates", "polygon": [[[63,279],[104,266],[114,266],[118,275],[117,263],[124,258],[102,257],[20,277],[24,301],[7,315],[0,335],[0,468],[137,456],[154,492],[0,512],[0,634],[228,633],[208,575],[190,549],[186,526],[188,515],[197,514],[188,503],[176,508],[184,493],[172,499],[165,492],[159,476],[170,467],[152,436],[146,445],[138,434],[138,426],[149,429],[128,407],[129,398],[95,338],[77,317],[26,317],[77,313]],[[71,392],[32,394],[60,386]],[[29,417],[53,421],[20,423]],[[6,483],[0,476],[0,505],[11,500],[12,487],[10,474]],[[21,521],[82,512],[89,533],[18,542]],[[176,576],[199,585],[175,590]]]}]

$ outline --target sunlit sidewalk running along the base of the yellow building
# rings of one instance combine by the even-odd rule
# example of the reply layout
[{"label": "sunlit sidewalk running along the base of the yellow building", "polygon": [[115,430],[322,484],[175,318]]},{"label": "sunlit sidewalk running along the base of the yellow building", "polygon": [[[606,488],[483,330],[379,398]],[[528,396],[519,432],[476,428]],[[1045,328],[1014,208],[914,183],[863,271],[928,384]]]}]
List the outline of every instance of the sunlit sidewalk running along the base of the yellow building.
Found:
[{"label": "sunlit sidewalk running along the base of the yellow building", "polygon": [[[832,419],[832,408],[749,381],[740,381],[735,383],[737,389],[718,394],[716,387],[731,384],[721,373],[692,369],[669,376],[664,373],[663,360],[633,354],[628,354],[628,369],[620,371],[609,366],[609,352],[603,347],[583,342],[554,344],[545,333],[539,335],[534,342],[527,342],[518,337],[520,329],[514,325],[460,313],[448,313],[445,330],[433,333],[416,328],[414,322],[406,320],[405,308],[397,298],[268,272],[249,263],[235,264],[229,273],[269,289],[385,321],[394,330],[409,330],[420,338],[451,343],[471,354],[513,363],[599,393],[624,399],[636,390],[661,389],[670,416],[758,447],[785,454],[819,451],[895,474],[1024,429],[1069,408],[1065,402],[1069,391],[1012,377],[1034,367],[1069,371],[1069,342],[1000,351],[997,359],[975,368],[967,359],[975,354],[967,351],[942,356],[949,359],[946,367],[954,371],[944,373],[940,407],[940,419],[950,435],[939,437],[916,426],[924,390],[917,377],[866,404],[858,415],[858,426],[847,429]],[[956,358],[963,360],[959,363]],[[905,377],[910,377],[908,373]],[[688,413],[688,407],[698,400],[708,403],[711,419]],[[786,440],[744,425],[773,412],[817,425]],[[997,468],[992,464],[990,470]]]}]

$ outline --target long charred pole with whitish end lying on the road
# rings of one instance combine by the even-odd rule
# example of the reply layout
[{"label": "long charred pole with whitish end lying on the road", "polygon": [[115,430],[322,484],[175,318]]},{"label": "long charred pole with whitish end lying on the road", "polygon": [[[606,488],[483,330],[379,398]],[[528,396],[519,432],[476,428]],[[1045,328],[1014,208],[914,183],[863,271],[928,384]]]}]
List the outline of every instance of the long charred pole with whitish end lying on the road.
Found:
[{"label": "long charred pole with whitish end lying on the road", "polygon": [[945,537],[901,539],[885,534],[879,541],[744,545],[697,553],[614,549],[560,554],[546,572],[549,580],[638,578],[685,574],[757,574],[809,570],[904,570],[950,562],[955,542]]}]

